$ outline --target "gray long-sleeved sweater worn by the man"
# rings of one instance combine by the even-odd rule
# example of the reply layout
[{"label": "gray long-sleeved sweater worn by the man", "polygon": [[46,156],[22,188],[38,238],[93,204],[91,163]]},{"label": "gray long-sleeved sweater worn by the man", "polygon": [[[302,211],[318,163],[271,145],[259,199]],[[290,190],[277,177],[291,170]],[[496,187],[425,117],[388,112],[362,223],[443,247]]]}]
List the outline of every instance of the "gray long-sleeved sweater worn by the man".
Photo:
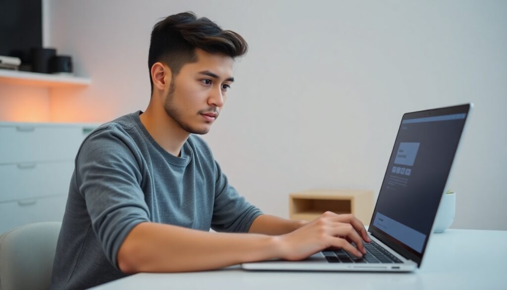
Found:
[{"label": "gray long-sleeved sweater worn by the man", "polygon": [[105,123],[83,141],[51,289],[82,289],[125,277],[117,253],[140,222],[245,233],[261,214],[229,185],[201,138],[190,135],[181,157],[173,156],[150,136],[140,113]]}]

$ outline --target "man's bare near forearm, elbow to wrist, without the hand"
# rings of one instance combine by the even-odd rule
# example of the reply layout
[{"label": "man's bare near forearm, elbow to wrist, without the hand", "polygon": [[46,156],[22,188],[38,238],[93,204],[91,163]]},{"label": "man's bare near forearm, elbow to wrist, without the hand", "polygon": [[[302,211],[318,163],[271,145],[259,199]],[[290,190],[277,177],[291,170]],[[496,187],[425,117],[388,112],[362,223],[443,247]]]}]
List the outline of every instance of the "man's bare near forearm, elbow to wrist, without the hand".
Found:
[{"label": "man's bare near forearm, elbow to wrist, without the hand", "polygon": [[118,265],[124,273],[202,271],[269,260],[280,257],[281,250],[278,237],[143,222],[120,247]]}]

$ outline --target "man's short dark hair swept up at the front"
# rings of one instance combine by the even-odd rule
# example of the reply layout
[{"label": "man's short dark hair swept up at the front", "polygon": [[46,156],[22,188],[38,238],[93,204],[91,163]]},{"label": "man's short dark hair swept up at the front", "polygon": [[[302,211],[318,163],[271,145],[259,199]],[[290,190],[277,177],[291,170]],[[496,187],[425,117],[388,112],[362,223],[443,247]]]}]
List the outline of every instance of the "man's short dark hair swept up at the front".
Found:
[{"label": "man's short dark hair swept up at the front", "polygon": [[221,53],[231,57],[244,55],[248,44],[237,33],[223,30],[206,17],[197,18],[193,12],[166,17],[153,26],[148,53],[148,69],[153,93],[151,69],[155,62],[165,63],[172,77],[188,62],[197,61],[195,49]]}]

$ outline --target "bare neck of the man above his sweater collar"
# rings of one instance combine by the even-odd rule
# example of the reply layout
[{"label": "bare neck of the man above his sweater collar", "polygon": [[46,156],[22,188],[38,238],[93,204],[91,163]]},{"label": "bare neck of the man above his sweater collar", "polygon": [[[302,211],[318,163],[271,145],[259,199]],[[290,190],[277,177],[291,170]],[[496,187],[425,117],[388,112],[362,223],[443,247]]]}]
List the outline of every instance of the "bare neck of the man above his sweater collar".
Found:
[{"label": "bare neck of the man above his sweater collar", "polygon": [[174,156],[180,156],[183,144],[187,141],[190,133],[183,130],[174,119],[169,117],[164,108],[148,106],[139,118],[146,127],[152,138],[167,152]]}]

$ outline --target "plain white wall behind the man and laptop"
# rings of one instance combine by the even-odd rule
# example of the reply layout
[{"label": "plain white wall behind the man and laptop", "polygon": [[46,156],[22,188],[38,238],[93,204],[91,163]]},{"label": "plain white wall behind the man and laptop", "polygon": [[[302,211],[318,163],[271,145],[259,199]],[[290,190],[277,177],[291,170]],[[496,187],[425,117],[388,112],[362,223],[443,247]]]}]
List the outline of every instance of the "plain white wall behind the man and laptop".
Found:
[{"label": "plain white wall behind the man and laptop", "polygon": [[151,28],[192,10],[250,46],[205,139],[253,204],[286,217],[289,192],[378,194],[403,113],[474,102],[453,227],[507,230],[507,2],[49,1],[50,44],[92,79],[53,91],[54,121],[144,110]]}]

